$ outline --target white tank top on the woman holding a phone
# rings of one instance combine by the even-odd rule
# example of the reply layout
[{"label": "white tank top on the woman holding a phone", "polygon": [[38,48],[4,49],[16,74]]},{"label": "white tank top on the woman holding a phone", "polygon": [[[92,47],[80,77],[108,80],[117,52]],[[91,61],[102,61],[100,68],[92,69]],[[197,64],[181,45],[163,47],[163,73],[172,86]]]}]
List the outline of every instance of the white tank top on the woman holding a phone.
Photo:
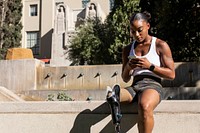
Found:
[{"label": "white tank top on the woman holding a phone", "polygon": [[[131,46],[131,50],[130,50],[130,53],[129,53],[130,56],[134,55],[134,56],[136,56],[136,58],[145,58],[146,57],[150,63],[154,64],[155,66],[160,66],[160,57],[156,52],[156,37],[152,37],[149,52],[144,56],[137,56],[135,54],[134,45],[135,45],[135,41],[133,42],[133,44]],[[152,71],[150,71],[148,69],[139,68],[139,67],[135,68],[132,71],[132,75],[133,76],[136,76],[136,75],[152,75],[152,76],[155,76],[155,77],[159,77],[158,75],[156,75]]]}]

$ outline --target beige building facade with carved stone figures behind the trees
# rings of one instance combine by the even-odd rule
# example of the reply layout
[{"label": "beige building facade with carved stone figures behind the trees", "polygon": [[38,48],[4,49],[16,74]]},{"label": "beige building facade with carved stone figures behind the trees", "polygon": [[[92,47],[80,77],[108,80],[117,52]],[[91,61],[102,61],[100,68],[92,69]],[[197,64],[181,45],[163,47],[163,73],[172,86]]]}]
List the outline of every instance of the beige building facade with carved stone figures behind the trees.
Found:
[{"label": "beige building facade with carved stone figures behind the trees", "polygon": [[59,60],[79,21],[92,15],[104,21],[111,6],[109,0],[23,0],[22,47],[32,49],[35,58]]}]

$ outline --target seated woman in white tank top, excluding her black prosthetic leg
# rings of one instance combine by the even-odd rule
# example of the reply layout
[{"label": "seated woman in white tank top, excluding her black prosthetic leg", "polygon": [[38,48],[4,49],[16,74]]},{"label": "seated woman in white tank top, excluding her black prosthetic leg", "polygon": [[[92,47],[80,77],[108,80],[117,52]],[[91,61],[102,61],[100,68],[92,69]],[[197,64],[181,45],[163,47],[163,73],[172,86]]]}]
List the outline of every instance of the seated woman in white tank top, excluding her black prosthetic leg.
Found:
[{"label": "seated woman in white tank top, excluding her black prosthetic leg", "polygon": [[120,89],[120,102],[137,100],[139,133],[151,133],[153,130],[153,110],[163,98],[161,78],[175,78],[168,44],[148,33],[150,17],[147,12],[131,17],[130,32],[134,41],[123,48],[122,54],[122,79],[128,82],[133,76],[133,84]]}]

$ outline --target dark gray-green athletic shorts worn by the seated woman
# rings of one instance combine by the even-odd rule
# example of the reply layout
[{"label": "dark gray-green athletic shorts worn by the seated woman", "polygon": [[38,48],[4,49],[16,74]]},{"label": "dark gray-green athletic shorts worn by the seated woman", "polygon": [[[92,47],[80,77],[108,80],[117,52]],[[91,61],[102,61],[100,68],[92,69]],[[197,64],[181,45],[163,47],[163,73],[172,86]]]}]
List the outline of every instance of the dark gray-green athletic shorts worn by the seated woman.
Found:
[{"label": "dark gray-green athletic shorts worn by the seated woman", "polygon": [[142,80],[133,82],[133,84],[126,89],[133,96],[134,101],[137,100],[138,95],[140,95],[146,89],[156,90],[160,95],[160,101],[164,99],[164,90],[161,83],[151,78],[143,78]]}]

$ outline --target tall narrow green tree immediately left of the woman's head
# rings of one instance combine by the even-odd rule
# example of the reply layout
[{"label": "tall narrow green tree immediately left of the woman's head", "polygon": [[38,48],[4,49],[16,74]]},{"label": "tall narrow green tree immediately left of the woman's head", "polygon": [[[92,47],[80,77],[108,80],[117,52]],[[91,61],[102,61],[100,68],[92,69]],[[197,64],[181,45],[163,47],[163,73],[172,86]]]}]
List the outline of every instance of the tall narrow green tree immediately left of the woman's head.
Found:
[{"label": "tall narrow green tree immediately left of the woman's head", "polygon": [[108,22],[115,31],[111,53],[116,55],[116,63],[122,62],[122,48],[131,42],[129,18],[139,12],[139,0],[115,0],[114,7],[108,16]]}]

